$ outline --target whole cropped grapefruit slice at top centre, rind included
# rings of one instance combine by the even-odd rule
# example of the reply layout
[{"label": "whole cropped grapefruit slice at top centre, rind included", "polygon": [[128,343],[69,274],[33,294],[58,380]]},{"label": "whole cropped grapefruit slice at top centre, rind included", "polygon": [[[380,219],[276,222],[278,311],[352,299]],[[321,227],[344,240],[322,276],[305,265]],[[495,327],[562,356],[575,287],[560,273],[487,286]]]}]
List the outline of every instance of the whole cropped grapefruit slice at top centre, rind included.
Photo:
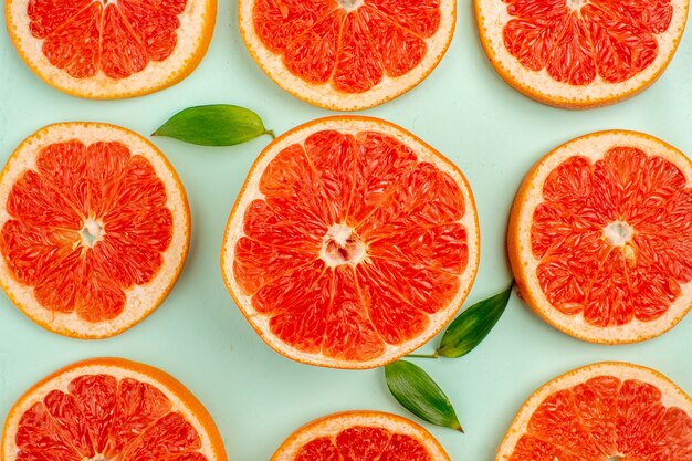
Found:
[{"label": "whole cropped grapefruit slice at top centre, rind included", "polygon": [[418,85],[454,33],[454,0],[239,0],[252,57],[311,104],[357,111]]}]

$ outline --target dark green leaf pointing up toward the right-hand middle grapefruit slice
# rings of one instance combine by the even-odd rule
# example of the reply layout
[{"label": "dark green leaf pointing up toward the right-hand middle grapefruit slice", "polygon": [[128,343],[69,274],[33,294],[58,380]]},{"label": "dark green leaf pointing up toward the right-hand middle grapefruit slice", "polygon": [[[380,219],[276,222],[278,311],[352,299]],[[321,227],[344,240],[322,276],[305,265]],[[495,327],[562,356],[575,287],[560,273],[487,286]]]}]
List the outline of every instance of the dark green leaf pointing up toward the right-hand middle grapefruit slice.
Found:
[{"label": "dark green leaf pointing up toward the right-hand middle grapefruit slice", "polygon": [[472,305],[457,317],[444,332],[434,354],[457,358],[469,354],[481,344],[507,306],[513,284],[514,282],[502,293]]}]

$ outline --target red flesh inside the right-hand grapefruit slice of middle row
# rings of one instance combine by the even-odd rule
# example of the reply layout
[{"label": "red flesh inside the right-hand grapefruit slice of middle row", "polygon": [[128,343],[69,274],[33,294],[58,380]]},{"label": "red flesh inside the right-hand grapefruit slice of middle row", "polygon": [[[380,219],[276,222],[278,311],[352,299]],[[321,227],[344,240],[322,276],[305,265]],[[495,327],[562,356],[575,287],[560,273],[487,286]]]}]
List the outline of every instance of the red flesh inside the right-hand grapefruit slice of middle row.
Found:
[{"label": "red flesh inside the right-hand grapefruit slice of middle row", "polygon": [[531,230],[537,276],[564,314],[595,326],[660,317],[692,281],[692,187],[671,161],[614,147],[574,156],[543,186]]}]

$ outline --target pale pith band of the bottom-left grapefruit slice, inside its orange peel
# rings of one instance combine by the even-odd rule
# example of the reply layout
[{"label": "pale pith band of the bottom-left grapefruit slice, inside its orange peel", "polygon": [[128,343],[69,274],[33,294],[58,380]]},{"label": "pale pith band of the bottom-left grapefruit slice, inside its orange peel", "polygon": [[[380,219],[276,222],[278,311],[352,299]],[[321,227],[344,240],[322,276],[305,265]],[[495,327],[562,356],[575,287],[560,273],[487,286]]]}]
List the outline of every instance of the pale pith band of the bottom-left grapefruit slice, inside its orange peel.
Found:
[{"label": "pale pith band of the bottom-left grapefruit slice, inside its orange peel", "polygon": [[[168,388],[166,385],[156,380],[149,375],[138,373],[133,369],[120,368],[114,365],[86,365],[70,369],[69,371],[60,374],[53,379],[48,380],[39,388],[32,389],[30,395],[22,396],[14,404],[14,406],[10,410],[10,413],[8,415],[4,426],[6,431],[2,434],[2,452],[0,453],[2,454],[2,457],[0,458],[4,459],[6,461],[14,461],[17,459],[17,453],[19,452],[19,447],[17,446],[15,441],[17,430],[19,429],[21,417],[29,408],[31,408],[36,402],[42,401],[45,396],[53,390],[61,390],[67,394],[70,383],[76,377],[99,374],[111,375],[115,377],[118,381],[125,378],[130,378],[156,387],[158,390],[164,392],[164,395],[170,400],[170,411],[179,412],[197,430],[201,442],[201,448],[197,451],[205,454],[208,461],[224,461],[220,460],[219,457],[217,457],[213,450],[213,446],[211,443],[210,434],[207,433],[205,425],[197,417],[195,409],[186,405],[186,402],[172,389]],[[96,455],[93,458],[94,461],[105,459],[106,458],[103,457],[103,453],[96,453]]]}]

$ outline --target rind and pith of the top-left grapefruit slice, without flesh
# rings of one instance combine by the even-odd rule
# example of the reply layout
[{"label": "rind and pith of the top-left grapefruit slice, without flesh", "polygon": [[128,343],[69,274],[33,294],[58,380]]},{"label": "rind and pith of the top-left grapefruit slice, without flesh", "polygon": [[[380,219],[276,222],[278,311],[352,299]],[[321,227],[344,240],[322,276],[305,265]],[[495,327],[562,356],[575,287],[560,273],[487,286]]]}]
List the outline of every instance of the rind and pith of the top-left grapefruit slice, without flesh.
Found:
[{"label": "rind and pith of the top-left grapefruit slice, without flesh", "polygon": [[29,0],[8,0],[4,9],[8,32],[19,55],[49,85],[92,99],[141,96],[180,82],[195,71],[207,53],[217,17],[217,0],[188,0],[178,17],[176,48],[165,61],[149,61],[141,72],[119,80],[107,76],[102,70],[93,77],[75,78],[51,64],[41,51],[43,40],[31,35],[28,3]]}]

